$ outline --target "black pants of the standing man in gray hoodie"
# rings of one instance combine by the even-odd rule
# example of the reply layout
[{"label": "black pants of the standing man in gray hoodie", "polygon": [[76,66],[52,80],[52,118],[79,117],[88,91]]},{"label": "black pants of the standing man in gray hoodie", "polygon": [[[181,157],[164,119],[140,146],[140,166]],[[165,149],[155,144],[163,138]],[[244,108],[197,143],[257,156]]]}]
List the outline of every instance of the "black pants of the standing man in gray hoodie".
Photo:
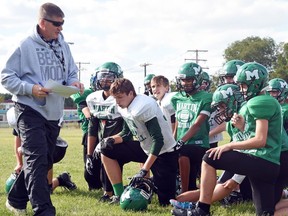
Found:
[{"label": "black pants of the standing man in gray hoodie", "polygon": [[[53,166],[53,152],[60,127],[57,121],[48,121],[27,105],[15,104],[17,127],[22,142],[24,182],[35,215],[55,215],[50,199],[48,170]],[[12,206],[24,206],[17,194],[10,194]],[[13,198],[12,198],[13,196]]]}]

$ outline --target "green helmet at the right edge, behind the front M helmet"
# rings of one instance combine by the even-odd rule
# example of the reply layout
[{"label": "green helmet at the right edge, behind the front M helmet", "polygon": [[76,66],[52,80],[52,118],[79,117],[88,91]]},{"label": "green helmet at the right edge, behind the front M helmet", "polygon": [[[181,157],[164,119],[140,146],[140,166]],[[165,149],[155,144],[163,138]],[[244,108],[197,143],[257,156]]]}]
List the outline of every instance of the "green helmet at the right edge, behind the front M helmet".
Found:
[{"label": "green helmet at the right edge, behind the front M helmet", "polygon": [[288,84],[285,80],[280,79],[280,78],[275,78],[275,79],[271,79],[268,82],[268,92],[278,92],[277,96],[273,96],[275,97],[275,99],[277,99],[279,102],[282,102],[283,100],[285,100],[287,98],[287,89],[288,88]]}]

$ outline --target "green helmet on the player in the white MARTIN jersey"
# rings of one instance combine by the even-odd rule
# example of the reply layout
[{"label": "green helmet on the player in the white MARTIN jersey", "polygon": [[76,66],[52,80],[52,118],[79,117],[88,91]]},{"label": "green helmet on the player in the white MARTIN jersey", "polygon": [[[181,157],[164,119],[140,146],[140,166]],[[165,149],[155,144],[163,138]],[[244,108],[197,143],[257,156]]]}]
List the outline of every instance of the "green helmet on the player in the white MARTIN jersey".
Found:
[{"label": "green helmet on the player in the white MARTIN jersey", "polygon": [[92,80],[93,89],[102,89],[108,91],[116,78],[122,78],[123,71],[121,67],[114,62],[106,62],[96,68],[95,77]]}]

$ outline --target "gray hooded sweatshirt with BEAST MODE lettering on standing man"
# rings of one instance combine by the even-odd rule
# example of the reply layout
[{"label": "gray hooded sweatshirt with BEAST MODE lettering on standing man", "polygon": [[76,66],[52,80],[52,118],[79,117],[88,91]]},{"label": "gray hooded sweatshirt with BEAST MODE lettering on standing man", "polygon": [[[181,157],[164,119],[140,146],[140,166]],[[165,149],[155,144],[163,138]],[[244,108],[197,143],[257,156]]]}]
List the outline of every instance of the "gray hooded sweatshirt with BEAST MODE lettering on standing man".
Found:
[{"label": "gray hooded sweatshirt with BEAST MODE lettering on standing man", "polygon": [[32,95],[33,85],[45,86],[49,79],[61,84],[65,81],[66,85],[78,81],[78,68],[71,55],[69,45],[64,41],[61,33],[58,41],[60,47],[56,44],[55,48],[62,48],[65,72],[53,50],[37,33],[37,26],[33,33],[20,43],[1,72],[1,83],[13,94],[12,100],[30,106],[47,120],[61,118],[64,98],[49,93],[46,99],[37,99]]}]

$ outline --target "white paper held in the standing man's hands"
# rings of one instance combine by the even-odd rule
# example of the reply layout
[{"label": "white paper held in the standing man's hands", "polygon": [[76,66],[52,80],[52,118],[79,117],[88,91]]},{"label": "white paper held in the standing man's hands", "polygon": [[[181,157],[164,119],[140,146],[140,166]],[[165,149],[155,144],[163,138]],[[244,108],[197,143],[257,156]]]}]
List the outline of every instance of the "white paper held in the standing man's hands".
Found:
[{"label": "white paper held in the standing man's hands", "polygon": [[76,86],[64,86],[51,79],[46,82],[44,87],[50,89],[51,92],[66,98],[68,98],[72,94],[79,92],[79,89]]}]

